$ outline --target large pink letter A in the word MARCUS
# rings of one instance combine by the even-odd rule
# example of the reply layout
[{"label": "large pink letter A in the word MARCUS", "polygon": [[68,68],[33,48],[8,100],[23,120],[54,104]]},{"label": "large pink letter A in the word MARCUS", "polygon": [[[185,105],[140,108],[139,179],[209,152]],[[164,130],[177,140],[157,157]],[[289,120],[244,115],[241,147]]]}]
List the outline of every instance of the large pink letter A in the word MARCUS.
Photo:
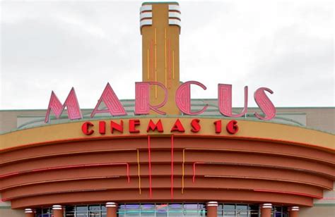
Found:
[{"label": "large pink letter A in the word MARCUS", "polygon": [[[99,110],[99,106],[102,101],[105,103],[107,109]],[[107,112],[109,112],[112,116],[127,116],[127,113],[126,111],[124,111],[124,108],[119,99],[117,98],[117,95],[114,93],[112,87],[110,87],[110,83],[107,83],[104,91],[101,94],[100,99],[98,100],[98,104],[93,109],[90,117],[93,118],[96,113]]]}]

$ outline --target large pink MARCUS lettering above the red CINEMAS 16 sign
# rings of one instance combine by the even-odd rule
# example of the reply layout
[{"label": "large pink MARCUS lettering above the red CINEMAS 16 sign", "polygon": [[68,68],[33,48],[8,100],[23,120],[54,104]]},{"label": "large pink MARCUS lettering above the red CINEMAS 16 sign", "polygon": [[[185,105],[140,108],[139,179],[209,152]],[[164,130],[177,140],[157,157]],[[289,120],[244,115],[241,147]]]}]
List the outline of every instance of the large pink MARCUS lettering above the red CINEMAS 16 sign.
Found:
[{"label": "large pink MARCUS lettering above the red CINEMAS 16 sign", "polygon": [[[150,87],[153,85],[160,87],[160,89],[163,89],[164,92],[164,99],[160,104],[157,105],[152,105],[150,102]],[[206,104],[199,111],[191,111],[191,85],[196,85],[206,90],[206,86],[201,82],[184,82],[182,85],[180,85],[180,87],[178,87],[175,93],[175,104],[177,108],[185,115],[196,116],[204,113],[208,105]],[[256,101],[259,109],[261,109],[261,111],[264,113],[264,116],[261,116],[259,113],[254,113],[254,116],[261,120],[271,120],[276,116],[276,108],[274,107],[274,104],[271,102],[269,97],[266,95],[266,92],[269,92],[270,94],[274,93],[271,89],[266,87],[261,87],[254,92],[254,101]],[[150,111],[155,111],[155,113],[164,116],[166,113],[161,108],[167,102],[167,94],[167,88],[160,82],[136,82],[135,115],[148,115]],[[98,108],[102,102],[105,104],[106,109],[99,110]],[[218,84],[218,109],[223,116],[232,118],[244,116],[247,113],[247,104],[248,87],[245,86],[244,108],[242,109],[241,113],[233,114],[232,85]],[[45,123],[49,122],[51,111],[55,114],[56,118],[60,118],[61,113],[64,112],[65,108],[67,108],[70,120],[78,120],[83,118],[78,99],[76,97],[76,92],[74,91],[73,87],[69,92],[68,97],[66,97],[64,104],[61,104],[56,94],[52,92],[45,116]],[[100,99],[98,100],[98,104],[96,104],[95,109],[93,109],[92,113],[90,114],[90,117],[94,118],[95,114],[97,113],[110,113],[111,116],[127,116],[127,112],[124,110],[121,101],[119,101],[117,94],[115,94],[109,83],[107,83]]]}]

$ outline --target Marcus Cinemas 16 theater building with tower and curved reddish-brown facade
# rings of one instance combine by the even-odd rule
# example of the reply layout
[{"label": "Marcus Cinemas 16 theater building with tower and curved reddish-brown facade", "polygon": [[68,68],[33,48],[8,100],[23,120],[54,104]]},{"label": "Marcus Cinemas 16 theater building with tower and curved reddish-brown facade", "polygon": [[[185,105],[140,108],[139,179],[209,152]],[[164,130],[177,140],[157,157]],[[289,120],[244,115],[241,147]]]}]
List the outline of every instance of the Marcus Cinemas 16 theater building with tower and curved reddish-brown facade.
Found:
[{"label": "Marcus Cinemas 16 theater building with tower and curved reddish-brown facade", "polygon": [[259,84],[232,108],[225,81],[191,99],[206,84],[180,81],[180,6],[144,3],[140,30],[134,99],[107,84],[94,109],[69,88],[0,111],[1,217],[334,216],[334,107],[278,108]]}]

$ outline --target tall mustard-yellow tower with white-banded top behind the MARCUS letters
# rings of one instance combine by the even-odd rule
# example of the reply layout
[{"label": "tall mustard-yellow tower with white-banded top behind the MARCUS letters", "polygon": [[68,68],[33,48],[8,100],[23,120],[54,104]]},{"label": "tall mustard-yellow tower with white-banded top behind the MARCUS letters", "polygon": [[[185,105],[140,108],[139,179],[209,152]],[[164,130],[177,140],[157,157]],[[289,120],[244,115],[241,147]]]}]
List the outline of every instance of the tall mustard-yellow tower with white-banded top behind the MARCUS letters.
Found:
[{"label": "tall mustard-yellow tower with white-banded top behind the MARCUS letters", "polygon": [[[167,114],[179,114],[175,92],[180,84],[179,35],[180,6],[177,2],[146,2],[140,10],[142,35],[142,80],[160,82],[167,88],[167,104],[161,109]],[[151,104],[160,104],[164,92],[151,87]]]}]

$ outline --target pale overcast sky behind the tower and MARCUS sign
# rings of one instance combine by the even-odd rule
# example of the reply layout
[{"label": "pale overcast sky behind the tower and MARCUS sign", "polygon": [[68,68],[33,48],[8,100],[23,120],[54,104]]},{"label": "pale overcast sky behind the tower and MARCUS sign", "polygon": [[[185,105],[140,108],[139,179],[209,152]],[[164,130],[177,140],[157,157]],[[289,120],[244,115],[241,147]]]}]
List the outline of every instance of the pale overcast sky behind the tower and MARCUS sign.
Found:
[{"label": "pale overcast sky behind the tower and MARCUS sign", "polygon": [[[180,77],[269,87],[275,106],[335,106],[333,1],[179,1]],[[141,1],[1,1],[0,109],[47,109],[51,91],[63,102],[71,87],[93,108],[110,82],[134,99],[141,81]],[[204,76],[206,74],[206,77]]]}]

